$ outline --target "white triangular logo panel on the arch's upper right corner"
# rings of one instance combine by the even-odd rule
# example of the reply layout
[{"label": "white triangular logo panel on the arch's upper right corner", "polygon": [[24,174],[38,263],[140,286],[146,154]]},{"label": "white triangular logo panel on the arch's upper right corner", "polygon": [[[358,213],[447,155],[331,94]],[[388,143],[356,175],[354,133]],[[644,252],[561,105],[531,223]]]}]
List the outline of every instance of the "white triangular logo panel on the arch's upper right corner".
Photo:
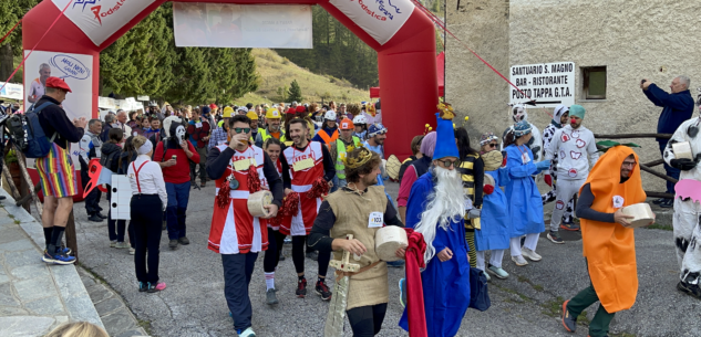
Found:
[{"label": "white triangular logo panel on the arch's upper right corner", "polygon": [[411,0],[329,0],[380,44],[399,31],[414,12]]}]

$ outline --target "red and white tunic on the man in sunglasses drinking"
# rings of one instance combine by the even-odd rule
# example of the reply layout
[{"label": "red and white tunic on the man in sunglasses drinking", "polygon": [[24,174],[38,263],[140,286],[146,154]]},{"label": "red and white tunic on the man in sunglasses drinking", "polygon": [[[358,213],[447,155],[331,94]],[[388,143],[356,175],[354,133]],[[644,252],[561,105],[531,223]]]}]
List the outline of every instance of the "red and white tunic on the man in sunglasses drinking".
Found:
[{"label": "red and white tunic on the man in sunglasses drinking", "polygon": [[[227,146],[220,145],[217,148],[224,152]],[[248,211],[248,197],[250,194],[248,191],[248,170],[250,166],[236,170],[236,162],[239,160],[249,160],[258,171],[260,185],[267,186],[262,172],[265,160],[262,149],[249,146],[245,151],[235,150],[226,171],[216,180],[217,193],[220,188],[229,183],[227,178],[231,173],[239,183],[236,190],[229,192],[228,207],[220,208],[215,199],[208,249],[219,254],[257,253],[268,249],[268,231],[265,221],[260,221]]]}]

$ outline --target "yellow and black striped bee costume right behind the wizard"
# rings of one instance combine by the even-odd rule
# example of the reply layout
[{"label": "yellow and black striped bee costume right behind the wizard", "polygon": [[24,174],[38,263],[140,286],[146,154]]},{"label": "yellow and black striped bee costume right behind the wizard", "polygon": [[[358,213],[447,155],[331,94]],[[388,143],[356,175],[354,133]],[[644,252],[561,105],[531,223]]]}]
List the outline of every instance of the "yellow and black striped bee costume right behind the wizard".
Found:
[{"label": "yellow and black striped bee costume right behind the wizard", "polygon": [[[467,155],[462,158],[458,172],[463,179],[465,196],[472,200],[474,208],[482,208],[482,188],[484,182],[484,162],[478,154]],[[477,263],[477,250],[475,249],[475,229],[480,229],[480,219],[467,220],[465,213],[465,240],[470,246],[470,265],[475,267]]]}]

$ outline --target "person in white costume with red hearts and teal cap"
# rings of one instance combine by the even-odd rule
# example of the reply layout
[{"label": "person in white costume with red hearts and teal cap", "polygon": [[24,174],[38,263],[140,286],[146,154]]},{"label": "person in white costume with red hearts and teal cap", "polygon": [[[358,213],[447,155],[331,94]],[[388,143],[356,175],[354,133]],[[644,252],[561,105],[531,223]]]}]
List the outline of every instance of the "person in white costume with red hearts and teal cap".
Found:
[{"label": "person in white costume with red hearts and teal cap", "polygon": [[594,167],[597,159],[599,159],[594,134],[581,125],[585,112],[581,105],[570,106],[569,125],[555,131],[553,140],[545,150],[545,159],[553,159],[555,154],[558,155],[556,167],[557,176],[559,177],[556,182],[557,197],[553,217],[550,218],[550,231],[547,234],[548,240],[554,243],[565,243],[559,236],[559,228],[567,231],[579,230],[579,225],[574,223],[560,223],[565,213],[565,206],[579,192],[585,180],[587,180],[589,168]]}]

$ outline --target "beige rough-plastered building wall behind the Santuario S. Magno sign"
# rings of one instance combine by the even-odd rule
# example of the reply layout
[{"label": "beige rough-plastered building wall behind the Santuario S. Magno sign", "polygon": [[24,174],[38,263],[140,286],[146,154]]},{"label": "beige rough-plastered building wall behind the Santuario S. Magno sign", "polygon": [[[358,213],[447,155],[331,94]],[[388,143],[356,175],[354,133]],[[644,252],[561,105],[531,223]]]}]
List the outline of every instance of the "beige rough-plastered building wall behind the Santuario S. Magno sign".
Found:
[{"label": "beige rough-plastered building wall behind the Santuario S. Magno sign", "polygon": [[[496,10],[496,3],[502,1],[485,2],[488,2],[486,8]],[[452,9],[450,4],[447,8],[449,29],[481,55],[501,53],[503,45],[496,43],[501,39],[492,36],[493,32],[480,33],[481,29],[488,28],[482,22],[493,18],[492,10],[456,12],[455,1],[453,3]],[[641,78],[649,78],[669,91],[677,75],[688,75],[694,98],[695,88],[701,87],[701,52],[697,42],[701,36],[701,1],[511,0],[505,12],[508,29],[504,34],[508,36],[509,57],[508,61],[495,57],[497,69],[508,77],[511,65],[574,62],[577,67],[575,102],[587,109],[584,125],[595,134],[657,130],[661,108],[641,93]],[[452,27],[457,22],[471,30],[456,32]],[[470,22],[474,24],[467,24]],[[458,112],[467,112],[480,131],[496,127],[501,133],[511,122],[506,109],[501,108],[508,103],[505,82],[496,74],[489,75],[486,66],[475,70],[478,60],[474,56],[476,62],[456,61],[455,55],[463,55],[461,49],[464,48],[454,42],[447,45],[446,99],[455,102]],[[492,48],[499,51],[489,51]],[[485,60],[492,62],[488,56]],[[466,66],[467,63],[472,66]],[[607,67],[606,99],[584,99],[580,69],[587,66]],[[460,88],[475,86],[481,86],[481,97],[465,94],[461,97]],[[697,114],[698,110],[694,116]],[[529,109],[529,120],[539,128],[549,119],[543,109]],[[660,158],[652,139],[632,141],[642,146],[637,152],[643,162]],[[643,181],[648,190],[663,189],[662,180],[648,173],[643,173]]]}]

